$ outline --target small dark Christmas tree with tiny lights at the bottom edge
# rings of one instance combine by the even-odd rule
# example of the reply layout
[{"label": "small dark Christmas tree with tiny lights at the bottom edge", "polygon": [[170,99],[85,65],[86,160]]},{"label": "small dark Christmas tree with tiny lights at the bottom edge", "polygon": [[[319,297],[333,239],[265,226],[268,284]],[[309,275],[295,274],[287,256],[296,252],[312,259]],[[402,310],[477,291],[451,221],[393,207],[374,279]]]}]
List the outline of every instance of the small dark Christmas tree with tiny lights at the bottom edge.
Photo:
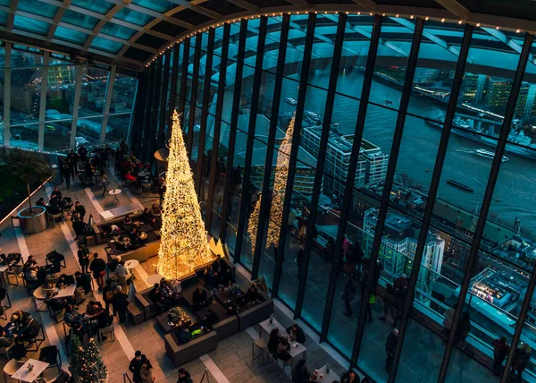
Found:
[{"label": "small dark Christmas tree with tiny lights at the bottom edge", "polygon": [[90,338],[88,345],[82,347],[80,337],[71,336],[70,370],[77,383],[105,383],[108,370],[96,348],[95,338]]}]

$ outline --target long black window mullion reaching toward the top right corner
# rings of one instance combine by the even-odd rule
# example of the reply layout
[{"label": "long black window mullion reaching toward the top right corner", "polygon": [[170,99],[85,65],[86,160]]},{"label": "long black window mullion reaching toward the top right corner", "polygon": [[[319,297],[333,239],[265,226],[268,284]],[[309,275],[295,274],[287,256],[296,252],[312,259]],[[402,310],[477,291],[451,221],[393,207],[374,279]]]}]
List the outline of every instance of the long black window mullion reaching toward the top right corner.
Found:
[{"label": "long black window mullion reaching toward the top right corner", "polygon": [[440,378],[438,379],[440,382],[445,381],[447,377],[448,362],[450,361],[450,355],[452,354],[452,349],[454,348],[456,340],[458,321],[462,315],[462,311],[464,310],[465,296],[469,289],[471,278],[473,277],[476,260],[478,259],[482,235],[488,220],[488,213],[490,211],[491,200],[493,198],[493,191],[495,190],[495,185],[497,183],[498,171],[507,147],[508,133],[510,132],[510,126],[515,114],[515,106],[517,105],[517,98],[523,82],[523,74],[527,66],[529,55],[531,54],[532,39],[532,35],[527,33],[523,44],[523,50],[521,51],[521,55],[519,57],[519,63],[517,64],[517,69],[515,70],[515,77],[512,83],[510,98],[508,99],[505,118],[503,120],[500,135],[498,137],[498,144],[497,149],[495,149],[493,164],[491,165],[490,178],[488,179],[486,191],[484,192],[484,199],[482,200],[481,214],[478,218],[476,228],[474,229],[473,244],[471,245],[471,251],[469,251],[469,258],[467,260],[467,265],[465,266],[464,279],[462,280],[462,285],[460,286],[457,307],[454,313],[454,318],[452,319],[452,328],[450,328],[450,336],[448,336],[447,350],[443,354],[443,362],[441,362]]}]

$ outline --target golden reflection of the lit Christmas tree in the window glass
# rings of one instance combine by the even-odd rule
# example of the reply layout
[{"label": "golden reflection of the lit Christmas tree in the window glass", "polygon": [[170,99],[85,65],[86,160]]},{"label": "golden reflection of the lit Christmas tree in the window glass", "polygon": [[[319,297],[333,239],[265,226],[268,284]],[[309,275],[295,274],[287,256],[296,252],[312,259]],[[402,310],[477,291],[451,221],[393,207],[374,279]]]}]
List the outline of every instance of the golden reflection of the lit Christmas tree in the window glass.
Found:
[{"label": "golden reflection of the lit Christmas tree in the window glass", "polygon": [[[283,222],[283,202],[285,200],[285,188],[289,178],[289,160],[290,149],[292,148],[292,135],[294,133],[295,117],[292,117],[289,123],[289,128],[285,134],[285,138],[281,142],[279,152],[277,154],[277,163],[275,166],[275,177],[273,180],[272,190],[272,208],[270,210],[270,219],[268,221],[268,236],[266,238],[266,249],[271,244],[277,247],[281,232],[281,223]],[[255,250],[255,238],[257,225],[259,220],[259,210],[262,197],[259,197],[255,205],[255,210],[249,218],[247,233],[252,249]]]}]

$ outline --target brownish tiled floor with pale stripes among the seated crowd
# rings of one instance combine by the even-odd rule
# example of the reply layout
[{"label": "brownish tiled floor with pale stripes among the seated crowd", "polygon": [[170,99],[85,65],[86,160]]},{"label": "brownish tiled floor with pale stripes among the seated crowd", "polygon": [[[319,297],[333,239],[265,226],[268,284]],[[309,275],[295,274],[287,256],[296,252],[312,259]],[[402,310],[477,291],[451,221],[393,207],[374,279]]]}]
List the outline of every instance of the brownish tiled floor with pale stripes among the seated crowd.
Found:
[{"label": "brownish tiled floor with pale stripes among the seated crowd", "polygon": [[[121,184],[114,178],[113,172],[109,171],[108,173],[109,180],[112,181],[110,188],[121,188]],[[50,188],[46,189],[50,192]],[[102,189],[97,186],[83,189],[77,181],[76,183],[71,183],[70,191],[65,190],[62,186],[60,186],[60,189],[63,191],[64,196],[70,196],[73,200],[80,200],[80,203],[86,207],[86,220],[89,215],[92,215],[98,223],[100,222],[98,212],[114,207],[112,197],[108,195],[103,197]],[[34,200],[38,200],[41,196],[46,197],[46,190],[38,191],[34,196]],[[158,196],[156,194],[138,194],[133,196],[130,192],[122,192],[118,198],[121,204],[139,202],[143,206],[150,207],[158,199]],[[72,274],[80,269],[75,256],[77,245],[73,240],[74,232],[72,231],[70,221],[57,225],[56,227],[51,227],[44,233],[22,235],[18,229],[12,228],[11,221],[7,219],[0,225],[0,230],[3,234],[3,237],[0,239],[2,252],[21,252],[24,258],[28,254],[31,254],[36,257],[38,264],[44,264],[46,253],[55,250],[66,256],[67,268],[63,270],[64,272]],[[91,247],[90,250],[99,251],[103,257],[105,256],[104,245]],[[139,288],[144,286],[142,284],[144,277],[155,273],[154,262],[155,259],[148,260],[135,270],[138,276],[137,285]],[[240,277],[243,278],[242,276]],[[60,346],[63,368],[66,368],[68,361],[65,357],[67,351],[65,350],[63,324],[54,325],[48,313],[35,311],[33,298],[28,296],[22,285],[9,285],[7,289],[13,302],[12,309],[7,312],[8,317],[11,316],[14,310],[24,310],[29,311],[34,318],[42,322],[46,327],[46,342],[43,345],[50,345],[52,343]],[[88,296],[87,301],[95,298],[102,300],[102,294],[95,292],[94,296]],[[279,302],[276,306],[276,319],[283,326],[288,327],[292,322],[289,318],[288,310]],[[84,310],[85,304],[80,307],[80,311]],[[0,321],[0,324],[5,324],[5,321]],[[122,374],[128,371],[129,361],[135,350],[142,351],[153,362],[156,382],[177,381],[177,369],[165,354],[163,334],[160,328],[156,326],[155,319],[148,320],[138,326],[133,326],[130,323],[120,325],[117,321],[113,325],[115,328],[115,341],[112,341],[112,337],[108,336],[105,343],[99,345],[99,350],[103,355],[108,369],[108,381],[110,383],[123,381]],[[276,371],[278,371],[279,367],[274,362],[268,362],[264,365],[261,365],[256,360],[252,362],[252,343],[254,342],[256,331],[256,329],[250,329],[235,336],[230,336],[219,342],[218,348],[214,352],[188,362],[183,367],[191,373],[196,383],[200,382],[203,378],[205,369],[208,369],[207,373],[210,382],[277,382],[279,379],[276,376]],[[332,369],[340,375],[344,368],[331,357],[335,353],[326,345],[318,345],[314,341],[314,337],[314,334],[310,333],[310,338],[306,343],[308,368],[314,370],[322,367],[326,363],[330,363]],[[38,353],[29,353],[28,357],[37,359]],[[342,359],[338,360],[345,364]],[[5,357],[0,356],[0,367],[3,368],[5,362]],[[348,366],[345,365],[344,367]],[[289,373],[289,370],[287,372]],[[54,375],[54,369],[46,371],[46,376],[52,375]],[[280,378],[286,381],[290,380],[284,374]],[[207,381],[206,378],[204,381]]]}]

